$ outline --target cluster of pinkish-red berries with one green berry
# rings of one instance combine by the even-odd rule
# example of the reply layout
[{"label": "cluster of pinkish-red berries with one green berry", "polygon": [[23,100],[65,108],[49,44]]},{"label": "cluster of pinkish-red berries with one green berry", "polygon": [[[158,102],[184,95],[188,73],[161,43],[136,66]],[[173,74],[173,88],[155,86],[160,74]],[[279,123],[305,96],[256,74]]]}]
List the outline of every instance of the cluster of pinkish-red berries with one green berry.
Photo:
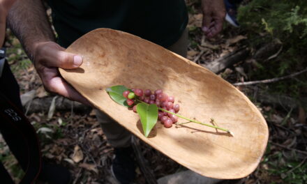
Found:
[{"label": "cluster of pinkish-red berries with one green berry", "polygon": [[[167,110],[168,112],[163,112],[162,110],[158,111],[158,120],[164,124],[165,128],[172,127],[173,123],[178,121],[178,116],[171,114],[179,112],[179,104],[174,105],[174,97],[163,93],[162,89],[157,89],[154,93],[151,90],[146,89],[132,89],[133,92],[124,91],[123,97],[127,98],[127,104],[129,106],[135,104],[135,98],[146,102],[148,104],[156,104],[157,107]],[[137,112],[136,105],[133,106],[133,112]]]}]

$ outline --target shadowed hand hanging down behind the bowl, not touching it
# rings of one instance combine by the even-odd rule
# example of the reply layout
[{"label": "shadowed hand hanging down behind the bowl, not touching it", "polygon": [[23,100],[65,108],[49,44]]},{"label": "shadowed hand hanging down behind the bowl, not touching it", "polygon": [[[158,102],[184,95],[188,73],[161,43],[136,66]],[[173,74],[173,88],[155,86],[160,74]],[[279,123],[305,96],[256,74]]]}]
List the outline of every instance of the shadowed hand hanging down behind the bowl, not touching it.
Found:
[{"label": "shadowed hand hanging down behind the bowl, not touching it", "polygon": [[202,31],[208,38],[222,31],[226,15],[223,0],[202,0],[202,14]]}]

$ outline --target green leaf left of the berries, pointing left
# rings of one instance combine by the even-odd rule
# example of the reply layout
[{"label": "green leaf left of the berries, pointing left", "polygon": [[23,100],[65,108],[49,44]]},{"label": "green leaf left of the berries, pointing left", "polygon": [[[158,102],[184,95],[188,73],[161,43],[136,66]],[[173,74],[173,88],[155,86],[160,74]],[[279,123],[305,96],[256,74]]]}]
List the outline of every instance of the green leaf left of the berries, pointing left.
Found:
[{"label": "green leaf left of the berries, pointing left", "polygon": [[129,89],[127,89],[125,86],[119,85],[119,86],[112,86],[110,88],[107,88],[105,91],[107,91],[107,93],[109,93],[112,100],[117,102],[119,105],[129,107],[129,105],[126,102],[127,99],[123,97],[123,91],[127,91],[127,90]]}]

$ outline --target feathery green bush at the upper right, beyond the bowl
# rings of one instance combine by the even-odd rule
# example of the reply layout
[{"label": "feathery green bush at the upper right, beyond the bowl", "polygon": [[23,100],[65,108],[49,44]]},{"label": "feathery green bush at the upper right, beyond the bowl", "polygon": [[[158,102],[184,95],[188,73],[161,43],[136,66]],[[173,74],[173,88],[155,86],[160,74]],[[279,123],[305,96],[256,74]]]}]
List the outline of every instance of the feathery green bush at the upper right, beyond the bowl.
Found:
[{"label": "feathery green bush at the upper right, beyond the bowl", "polygon": [[[250,45],[255,50],[275,40],[283,45],[276,59],[258,63],[257,70],[250,73],[250,79],[281,77],[307,67],[306,1],[249,1],[239,8],[238,20],[247,31]],[[306,77],[304,74],[297,77],[295,82],[290,79],[270,84],[270,90],[299,97],[303,95],[301,89],[306,88]]]}]

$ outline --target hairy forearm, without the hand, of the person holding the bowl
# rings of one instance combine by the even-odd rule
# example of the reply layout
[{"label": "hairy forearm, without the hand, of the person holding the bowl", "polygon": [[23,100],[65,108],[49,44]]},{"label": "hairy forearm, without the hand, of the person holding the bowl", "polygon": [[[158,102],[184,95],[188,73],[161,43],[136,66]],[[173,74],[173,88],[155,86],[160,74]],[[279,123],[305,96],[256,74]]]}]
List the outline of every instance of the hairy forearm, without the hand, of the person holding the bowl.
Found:
[{"label": "hairy forearm, without the hand, of the person holding the bowl", "polygon": [[8,26],[32,61],[39,43],[54,41],[45,7],[40,0],[17,1],[8,13]]}]

